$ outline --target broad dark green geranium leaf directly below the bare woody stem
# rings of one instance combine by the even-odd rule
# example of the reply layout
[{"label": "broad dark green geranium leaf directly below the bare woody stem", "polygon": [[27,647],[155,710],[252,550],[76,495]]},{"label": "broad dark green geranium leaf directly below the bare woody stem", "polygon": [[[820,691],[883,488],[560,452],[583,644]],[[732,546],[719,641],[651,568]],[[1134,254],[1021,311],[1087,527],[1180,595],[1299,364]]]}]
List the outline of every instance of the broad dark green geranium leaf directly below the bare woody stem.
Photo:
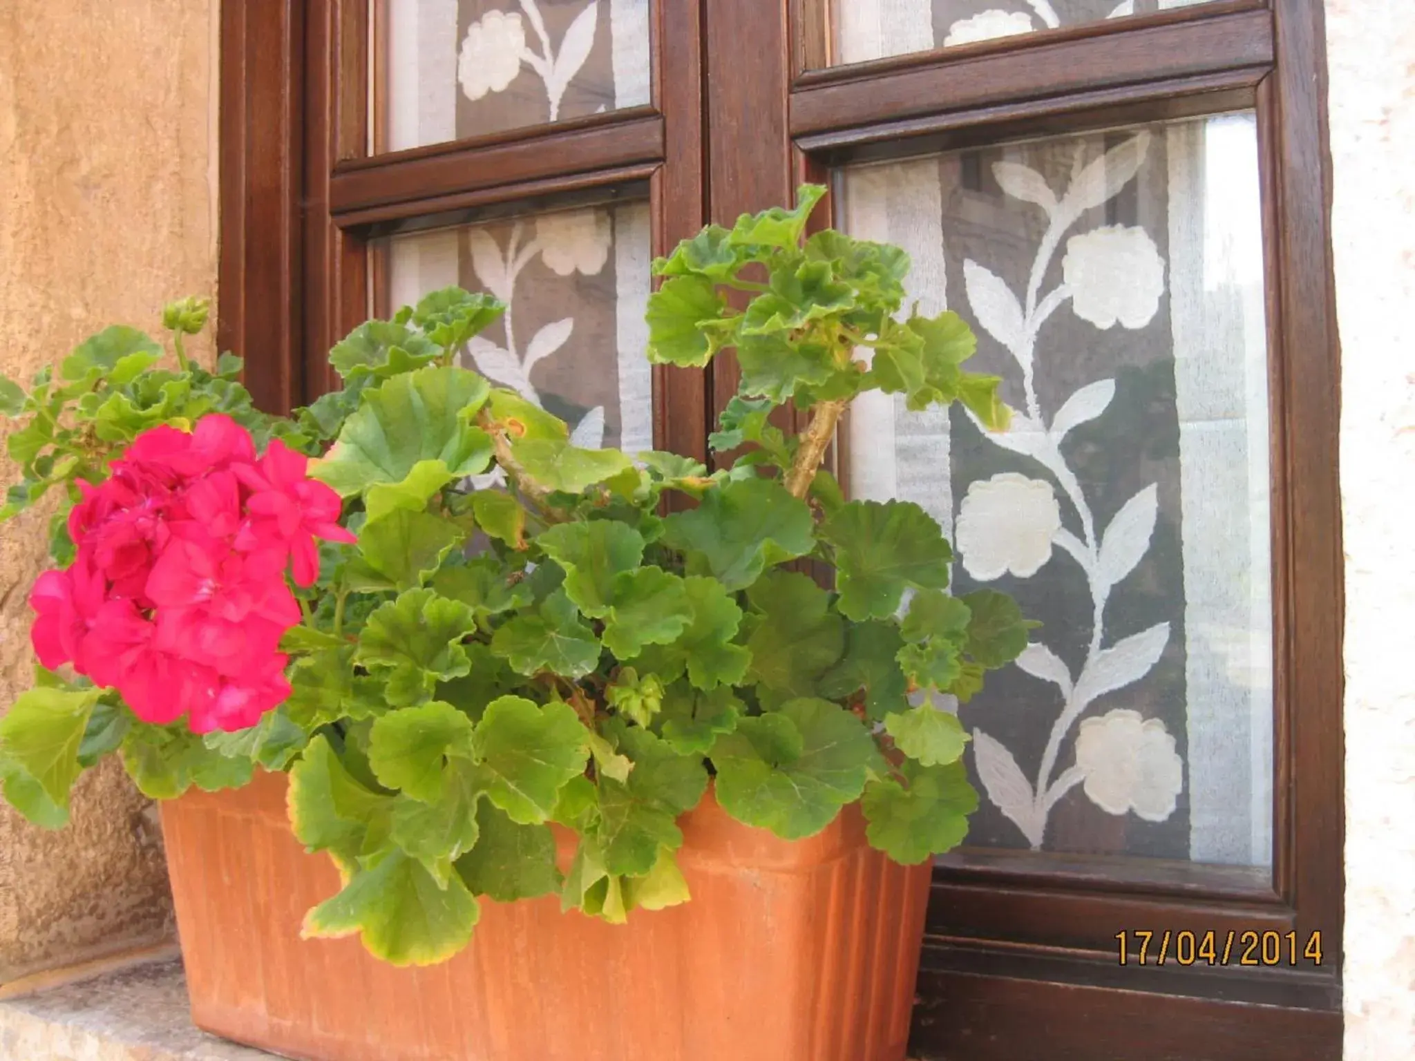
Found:
[{"label": "broad dark green geranium leaf directly below the bare woody stem", "polygon": [[952,550],[938,523],[911,501],[852,501],[825,521],[821,536],[835,546],[846,618],[887,618],[906,589],[948,584]]}]

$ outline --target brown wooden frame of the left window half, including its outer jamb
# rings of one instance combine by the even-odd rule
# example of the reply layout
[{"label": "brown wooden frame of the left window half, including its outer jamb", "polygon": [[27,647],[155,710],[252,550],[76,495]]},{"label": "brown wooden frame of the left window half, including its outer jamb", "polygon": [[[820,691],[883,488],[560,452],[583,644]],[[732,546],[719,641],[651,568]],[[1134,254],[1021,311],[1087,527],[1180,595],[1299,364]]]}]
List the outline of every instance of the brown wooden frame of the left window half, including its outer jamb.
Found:
[{"label": "brown wooden frame of the left window half, including its outer jamb", "polygon": [[[216,334],[265,409],[337,385],[328,349],[369,315],[369,245],[410,221],[647,198],[655,255],[705,221],[702,0],[649,4],[647,106],[371,156],[369,30],[389,1],[222,4]],[[706,456],[705,379],[655,366],[655,446]]]}]

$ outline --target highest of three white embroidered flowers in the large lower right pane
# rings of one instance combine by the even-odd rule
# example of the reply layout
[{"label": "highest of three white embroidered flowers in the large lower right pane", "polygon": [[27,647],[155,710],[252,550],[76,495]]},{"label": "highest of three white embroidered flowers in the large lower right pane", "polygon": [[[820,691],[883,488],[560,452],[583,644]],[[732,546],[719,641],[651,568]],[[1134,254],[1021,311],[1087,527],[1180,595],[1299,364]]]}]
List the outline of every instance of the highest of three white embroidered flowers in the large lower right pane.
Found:
[{"label": "highest of three white embroidered flowers in the large lower right pane", "polygon": [[1108,225],[1071,236],[1061,260],[1071,310],[1105,331],[1119,321],[1143,328],[1165,294],[1165,259],[1142,228]]}]

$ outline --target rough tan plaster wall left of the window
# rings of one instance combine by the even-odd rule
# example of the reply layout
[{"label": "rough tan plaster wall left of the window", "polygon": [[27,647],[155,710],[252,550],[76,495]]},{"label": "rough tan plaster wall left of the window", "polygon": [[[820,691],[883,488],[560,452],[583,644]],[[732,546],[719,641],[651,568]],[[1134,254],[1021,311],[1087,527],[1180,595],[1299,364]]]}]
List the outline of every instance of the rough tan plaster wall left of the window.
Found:
[{"label": "rough tan plaster wall left of the window", "polygon": [[[163,303],[212,293],[215,21],[215,0],[0,3],[0,371],[28,382],[108,324],[156,330]],[[28,682],[45,525],[0,529],[0,705]],[[74,818],[44,833],[0,808],[0,982],[171,932],[122,771],[88,775]]]}]

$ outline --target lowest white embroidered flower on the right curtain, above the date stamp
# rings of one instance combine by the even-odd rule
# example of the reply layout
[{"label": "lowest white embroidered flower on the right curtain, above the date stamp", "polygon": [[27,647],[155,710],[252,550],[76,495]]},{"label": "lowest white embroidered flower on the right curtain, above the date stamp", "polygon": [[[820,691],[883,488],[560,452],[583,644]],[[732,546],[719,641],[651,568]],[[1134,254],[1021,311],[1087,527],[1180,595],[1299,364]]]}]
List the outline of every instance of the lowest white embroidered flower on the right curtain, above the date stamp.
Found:
[{"label": "lowest white embroidered flower on the right curtain, above the date stamp", "polygon": [[1184,763],[1165,723],[1124,707],[1081,720],[1075,765],[1092,804],[1112,815],[1133,811],[1146,822],[1174,813],[1184,787]]}]

